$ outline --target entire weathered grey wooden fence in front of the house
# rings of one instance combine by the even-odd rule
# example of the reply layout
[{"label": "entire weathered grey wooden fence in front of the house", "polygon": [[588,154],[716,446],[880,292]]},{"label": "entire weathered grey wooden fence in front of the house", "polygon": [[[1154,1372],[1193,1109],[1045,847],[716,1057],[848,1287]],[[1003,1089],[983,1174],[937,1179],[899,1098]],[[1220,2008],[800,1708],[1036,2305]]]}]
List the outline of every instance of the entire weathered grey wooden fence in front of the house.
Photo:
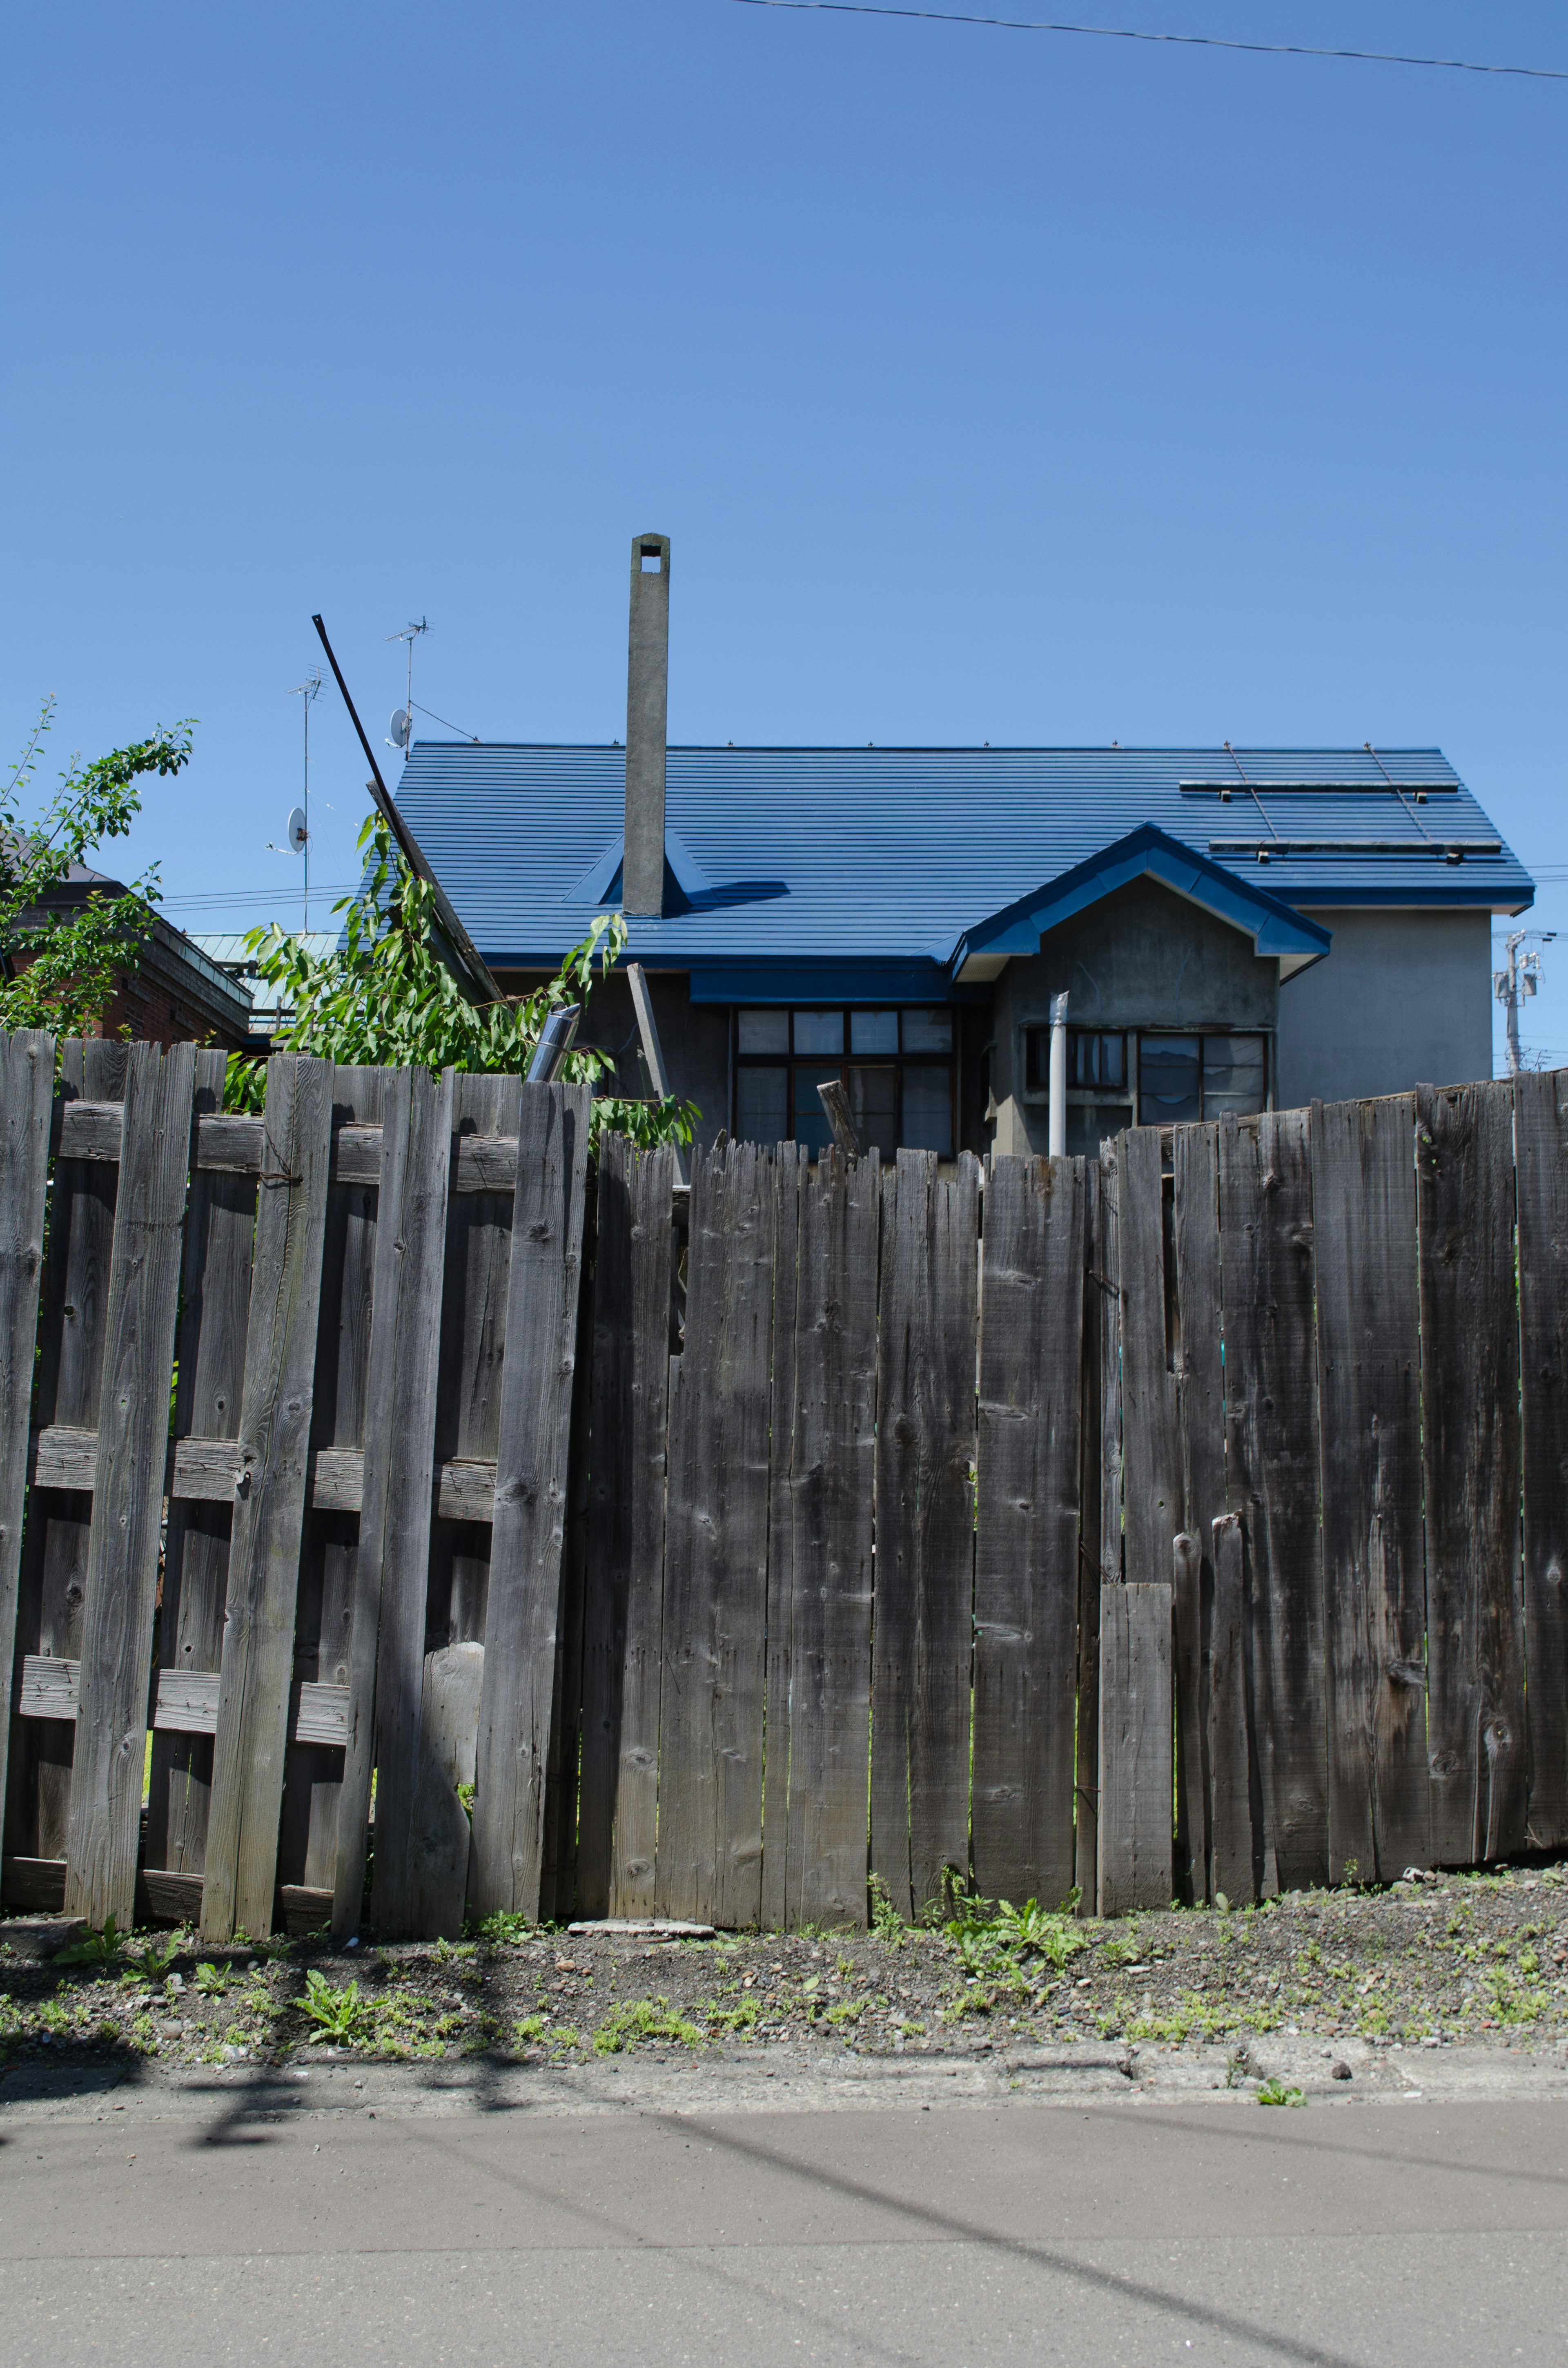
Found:
[{"label": "entire weathered grey wooden fence in front of the house", "polygon": [[1113,1913],[1568,1842],[1568,1073],[597,1193],[580,1089],[220,1094],[0,1037],[9,1904],[355,1930],[369,1840],[384,1932]]}]

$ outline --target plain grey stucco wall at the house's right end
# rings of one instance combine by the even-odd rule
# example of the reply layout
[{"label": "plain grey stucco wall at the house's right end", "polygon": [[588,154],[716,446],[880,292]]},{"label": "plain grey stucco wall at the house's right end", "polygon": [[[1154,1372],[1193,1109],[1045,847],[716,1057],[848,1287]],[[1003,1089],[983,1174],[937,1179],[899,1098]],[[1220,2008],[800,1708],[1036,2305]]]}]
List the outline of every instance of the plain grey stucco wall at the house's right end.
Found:
[{"label": "plain grey stucco wall at the house's right end", "polygon": [[1279,1106],[1492,1075],[1487,912],[1312,912],[1334,950],[1279,995]]}]

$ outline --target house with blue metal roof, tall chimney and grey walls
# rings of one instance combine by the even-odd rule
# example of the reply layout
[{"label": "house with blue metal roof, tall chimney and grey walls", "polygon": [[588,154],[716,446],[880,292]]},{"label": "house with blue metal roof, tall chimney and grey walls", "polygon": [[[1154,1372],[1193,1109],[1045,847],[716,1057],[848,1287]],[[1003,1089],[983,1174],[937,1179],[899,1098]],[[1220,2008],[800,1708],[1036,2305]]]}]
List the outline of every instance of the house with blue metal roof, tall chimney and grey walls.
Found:
[{"label": "house with blue metal roof, tall chimney and grey walls", "polygon": [[[1435,748],[668,748],[668,538],[632,545],[628,746],[417,741],[396,789],[509,992],[628,916],[699,1139],[1045,1151],[1492,1073],[1532,881]],[[644,1092],[621,980],[585,1042]]]}]

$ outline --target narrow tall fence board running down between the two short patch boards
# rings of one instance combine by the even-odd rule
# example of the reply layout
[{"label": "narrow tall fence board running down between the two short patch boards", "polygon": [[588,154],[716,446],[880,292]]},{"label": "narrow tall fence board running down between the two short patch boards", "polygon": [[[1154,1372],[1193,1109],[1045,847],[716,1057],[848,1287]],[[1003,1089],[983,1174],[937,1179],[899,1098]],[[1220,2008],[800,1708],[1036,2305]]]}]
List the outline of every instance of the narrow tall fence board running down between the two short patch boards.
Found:
[{"label": "narrow tall fence board running down between the two short patch boards", "polygon": [[1172,1130],[1177,1257],[1177,1397],[1182,1530],[1194,1553],[1175,1572],[1177,1880],[1208,1897],[1208,1610],[1213,1523],[1225,1511],[1225,1364],[1220,1350],[1220,1130]]}]

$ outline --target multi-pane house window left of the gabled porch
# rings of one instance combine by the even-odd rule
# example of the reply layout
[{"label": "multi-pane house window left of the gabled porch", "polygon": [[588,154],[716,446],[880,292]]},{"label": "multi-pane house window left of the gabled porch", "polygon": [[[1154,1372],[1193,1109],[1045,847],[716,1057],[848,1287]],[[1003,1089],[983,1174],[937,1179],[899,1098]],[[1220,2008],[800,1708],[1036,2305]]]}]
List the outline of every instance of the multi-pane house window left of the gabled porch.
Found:
[{"label": "multi-pane house window left of the gabled porch", "polygon": [[751,1009],[737,1014],[734,1051],[741,1141],[793,1139],[817,1158],[834,1139],[817,1087],[836,1077],[867,1151],[952,1158],[952,1011]]}]

